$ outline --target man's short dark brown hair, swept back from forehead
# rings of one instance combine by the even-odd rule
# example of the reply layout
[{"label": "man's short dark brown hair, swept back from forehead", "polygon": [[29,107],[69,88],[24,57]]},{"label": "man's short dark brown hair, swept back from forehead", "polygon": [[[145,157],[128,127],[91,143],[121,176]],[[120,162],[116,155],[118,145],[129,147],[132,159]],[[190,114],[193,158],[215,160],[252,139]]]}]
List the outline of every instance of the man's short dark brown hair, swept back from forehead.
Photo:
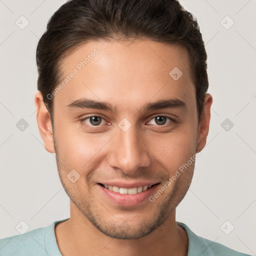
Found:
[{"label": "man's short dark brown hair, swept back from forehead", "polygon": [[146,38],[186,47],[196,88],[198,120],[208,89],[206,51],[196,18],[177,0],[69,0],[49,19],[36,49],[37,88],[47,95],[60,79],[61,60],[88,40]]}]

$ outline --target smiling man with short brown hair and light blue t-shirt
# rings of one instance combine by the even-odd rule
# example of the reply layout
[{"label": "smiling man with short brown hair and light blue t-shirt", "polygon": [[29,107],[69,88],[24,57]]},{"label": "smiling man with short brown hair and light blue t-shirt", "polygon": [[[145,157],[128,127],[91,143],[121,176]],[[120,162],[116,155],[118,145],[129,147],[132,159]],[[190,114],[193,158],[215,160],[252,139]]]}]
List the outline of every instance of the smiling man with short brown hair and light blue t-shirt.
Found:
[{"label": "smiling man with short brown hair and light blue t-shirt", "polygon": [[70,217],[1,239],[1,255],[245,255],[175,221],[212,103],[190,13],[174,0],[71,0],[36,60],[37,123]]}]

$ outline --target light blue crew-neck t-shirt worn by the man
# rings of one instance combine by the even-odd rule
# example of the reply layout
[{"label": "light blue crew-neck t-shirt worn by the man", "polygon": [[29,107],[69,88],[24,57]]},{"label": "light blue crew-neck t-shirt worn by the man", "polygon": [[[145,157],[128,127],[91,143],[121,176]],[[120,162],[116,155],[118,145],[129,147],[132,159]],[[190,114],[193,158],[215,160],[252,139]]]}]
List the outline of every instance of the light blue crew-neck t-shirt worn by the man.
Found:
[{"label": "light blue crew-neck t-shirt worn by the man", "polygon": [[[54,226],[62,221],[54,221],[46,227],[39,227],[24,234],[0,239],[0,256],[61,256],[58,249]],[[177,222],[187,233],[187,256],[248,256],[232,250],[218,242],[197,236],[184,223]]]}]

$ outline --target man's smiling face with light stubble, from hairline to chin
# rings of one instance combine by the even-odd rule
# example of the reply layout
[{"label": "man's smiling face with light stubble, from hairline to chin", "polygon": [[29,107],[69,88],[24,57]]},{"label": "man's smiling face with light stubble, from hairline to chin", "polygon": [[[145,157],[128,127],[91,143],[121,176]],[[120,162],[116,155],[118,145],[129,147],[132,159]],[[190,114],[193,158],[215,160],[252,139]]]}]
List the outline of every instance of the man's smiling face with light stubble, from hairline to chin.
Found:
[{"label": "man's smiling face with light stubble, from hairline to chin", "polygon": [[44,142],[73,210],[108,236],[147,235],[175,214],[205,144],[186,50],[91,41],[63,59],[61,72],[54,149]]}]

